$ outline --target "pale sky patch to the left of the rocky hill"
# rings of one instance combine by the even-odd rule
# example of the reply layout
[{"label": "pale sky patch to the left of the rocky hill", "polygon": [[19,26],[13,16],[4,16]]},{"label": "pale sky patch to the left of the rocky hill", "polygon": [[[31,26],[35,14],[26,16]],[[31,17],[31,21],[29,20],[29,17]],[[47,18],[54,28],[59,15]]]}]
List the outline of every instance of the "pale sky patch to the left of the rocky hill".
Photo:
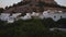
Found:
[{"label": "pale sky patch to the left of the rocky hill", "polygon": [[12,5],[13,3],[18,3],[21,0],[0,0],[0,8]]}]

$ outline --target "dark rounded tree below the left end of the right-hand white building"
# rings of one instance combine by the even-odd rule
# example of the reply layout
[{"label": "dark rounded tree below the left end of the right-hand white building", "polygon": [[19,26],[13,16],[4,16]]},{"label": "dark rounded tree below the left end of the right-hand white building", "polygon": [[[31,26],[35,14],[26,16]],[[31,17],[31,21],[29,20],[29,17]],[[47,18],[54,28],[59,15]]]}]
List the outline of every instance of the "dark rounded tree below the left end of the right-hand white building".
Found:
[{"label": "dark rounded tree below the left end of the right-hand white building", "polygon": [[47,28],[57,27],[56,23],[51,17],[44,18],[43,22],[44,22],[44,26]]}]

